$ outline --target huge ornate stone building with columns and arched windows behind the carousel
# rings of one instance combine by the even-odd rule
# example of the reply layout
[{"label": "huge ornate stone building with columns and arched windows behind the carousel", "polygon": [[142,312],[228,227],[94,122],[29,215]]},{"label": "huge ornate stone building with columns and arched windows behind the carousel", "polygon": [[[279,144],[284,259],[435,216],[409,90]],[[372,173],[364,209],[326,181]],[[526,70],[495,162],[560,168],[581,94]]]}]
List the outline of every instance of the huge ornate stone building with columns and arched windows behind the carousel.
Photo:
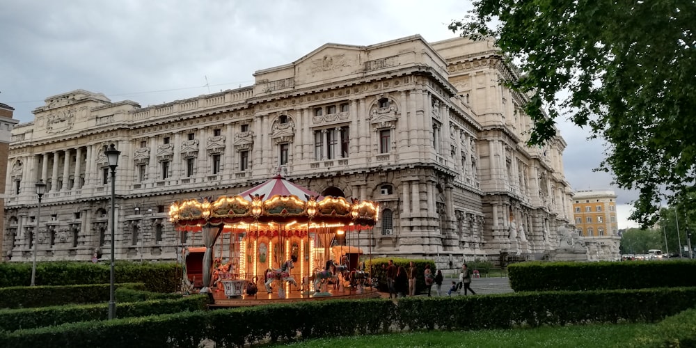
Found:
[{"label": "huge ornate stone building with columns and arched windows behind the carousel", "polygon": [[173,260],[200,236],[181,241],[168,205],[236,194],[278,171],[324,195],[378,201],[378,226],[347,237],[373,255],[441,266],[541,255],[572,223],[572,193],[562,138],[525,145],[524,96],[501,84],[516,76],[490,42],[415,35],[326,44],[255,72],[253,86],[146,108],[86,90],[55,95],[13,131],[3,247],[29,260],[38,232],[40,260],[108,253],[104,145],[114,143],[119,259]]}]

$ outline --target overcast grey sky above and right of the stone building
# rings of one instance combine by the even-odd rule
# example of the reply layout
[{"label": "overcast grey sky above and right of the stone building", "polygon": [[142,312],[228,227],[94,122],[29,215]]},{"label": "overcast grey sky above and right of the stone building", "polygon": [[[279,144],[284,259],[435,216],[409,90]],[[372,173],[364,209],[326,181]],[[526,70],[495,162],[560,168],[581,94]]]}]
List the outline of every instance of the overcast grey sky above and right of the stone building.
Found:
[{"label": "overcast grey sky above and right of the stone building", "polygon": [[[75,89],[141,106],[250,86],[253,72],[292,63],[327,42],[372,45],[420,34],[454,37],[447,24],[470,1],[4,0],[0,102],[21,122],[52,95]],[[562,122],[562,120],[560,120]],[[635,192],[593,173],[601,141],[567,122],[565,175],[573,189],[613,189],[619,228]]]}]

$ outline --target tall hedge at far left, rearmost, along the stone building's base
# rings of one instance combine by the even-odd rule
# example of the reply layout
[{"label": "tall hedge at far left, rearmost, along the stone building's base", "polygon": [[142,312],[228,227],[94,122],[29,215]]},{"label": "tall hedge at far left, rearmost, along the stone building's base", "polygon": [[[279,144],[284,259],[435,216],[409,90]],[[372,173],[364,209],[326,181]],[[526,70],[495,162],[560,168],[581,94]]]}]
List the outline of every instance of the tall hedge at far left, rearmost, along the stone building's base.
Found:
[{"label": "tall hedge at far left, rearmost, along the stone building's base", "polygon": [[[37,262],[37,285],[76,285],[109,283],[109,264],[92,262]],[[178,275],[178,276],[177,276]],[[175,292],[180,285],[181,267],[175,262],[118,261],[114,265],[116,283],[145,283],[153,292]],[[0,287],[29,286],[30,262],[1,262]]]}]

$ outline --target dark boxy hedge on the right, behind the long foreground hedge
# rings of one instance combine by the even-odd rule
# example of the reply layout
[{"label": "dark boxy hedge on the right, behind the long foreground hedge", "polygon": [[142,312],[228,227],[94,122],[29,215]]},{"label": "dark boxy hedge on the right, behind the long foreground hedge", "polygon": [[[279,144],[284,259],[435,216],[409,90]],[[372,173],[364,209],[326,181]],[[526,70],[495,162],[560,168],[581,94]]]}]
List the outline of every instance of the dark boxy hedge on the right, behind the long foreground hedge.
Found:
[{"label": "dark boxy hedge on the right, behind the long foreground hedge", "polygon": [[516,292],[692,287],[696,260],[520,262],[508,274]]}]

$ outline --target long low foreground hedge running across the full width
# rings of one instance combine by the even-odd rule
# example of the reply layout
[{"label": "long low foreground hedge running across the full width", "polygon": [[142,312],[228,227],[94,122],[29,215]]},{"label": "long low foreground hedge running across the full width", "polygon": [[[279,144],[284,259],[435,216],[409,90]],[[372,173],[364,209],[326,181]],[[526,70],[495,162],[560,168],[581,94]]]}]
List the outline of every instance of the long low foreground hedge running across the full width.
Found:
[{"label": "long low foreground hedge running across the full width", "polygon": [[0,333],[0,347],[198,347],[206,339],[230,347],[398,329],[656,322],[695,307],[696,287],[328,300],[23,329]]}]

